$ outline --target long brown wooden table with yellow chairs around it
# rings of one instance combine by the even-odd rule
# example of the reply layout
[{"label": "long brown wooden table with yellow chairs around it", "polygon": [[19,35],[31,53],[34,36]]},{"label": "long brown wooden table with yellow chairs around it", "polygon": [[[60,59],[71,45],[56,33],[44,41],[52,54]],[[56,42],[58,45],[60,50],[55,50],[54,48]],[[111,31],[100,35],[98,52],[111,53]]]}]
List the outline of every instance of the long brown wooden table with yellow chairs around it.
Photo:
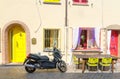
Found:
[{"label": "long brown wooden table with yellow chairs around it", "polygon": [[86,60],[88,60],[88,58],[90,57],[96,57],[96,58],[99,58],[99,59],[102,59],[104,57],[111,57],[112,58],[112,66],[111,66],[111,71],[112,73],[114,72],[114,60],[117,60],[118,58],[115,57],[115,56],[111,56],[111,55],[108,55],[108,54],[96,54],[96,55],[85,55],[85,54],[74,54],[77,58],[78,58],[78,62],[80,62],[80,58],[83,59],[83,62],[82,62],[82,73],[84,73],[85,71],[85,63],[86,63]]}]

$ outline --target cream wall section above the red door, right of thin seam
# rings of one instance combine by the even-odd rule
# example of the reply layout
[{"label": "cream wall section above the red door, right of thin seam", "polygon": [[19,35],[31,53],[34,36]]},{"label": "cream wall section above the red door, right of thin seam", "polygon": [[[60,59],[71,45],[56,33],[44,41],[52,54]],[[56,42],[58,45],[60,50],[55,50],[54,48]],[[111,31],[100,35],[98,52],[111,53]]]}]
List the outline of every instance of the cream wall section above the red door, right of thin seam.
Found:
[{"label": "cream wall section above the red door, right of thin seam", "polygon": [[104,27],[118,24],[120,25],[120,0],[104,0],[103,2],[103,20]]}]

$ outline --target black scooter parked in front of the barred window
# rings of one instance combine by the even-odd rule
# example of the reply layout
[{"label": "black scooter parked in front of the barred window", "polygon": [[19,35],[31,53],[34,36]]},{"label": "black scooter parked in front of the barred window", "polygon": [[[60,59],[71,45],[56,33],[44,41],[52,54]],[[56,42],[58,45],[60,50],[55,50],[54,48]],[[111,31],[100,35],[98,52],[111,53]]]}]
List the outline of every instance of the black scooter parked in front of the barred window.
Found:
[{"label": "black scooter parked in front of the barred window", "polygon": [[25,59],[23,65],[28,73],[33,73],[38,69],[54,69],[58,68],[60,72],[66,72],[66,63],[61,59],[61,52],[57,49],[53,49],[53,60],[50,61],[47,56],[39,56],[37,54],[29,54]]}]

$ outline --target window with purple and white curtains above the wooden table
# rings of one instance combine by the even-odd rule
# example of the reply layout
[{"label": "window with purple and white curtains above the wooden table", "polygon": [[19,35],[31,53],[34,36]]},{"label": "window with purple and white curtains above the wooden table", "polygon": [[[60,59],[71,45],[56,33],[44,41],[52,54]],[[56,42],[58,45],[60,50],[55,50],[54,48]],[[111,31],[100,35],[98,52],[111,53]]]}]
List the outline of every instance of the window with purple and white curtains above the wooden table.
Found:
[{"label": "window with purple and white curtains above the wooden table", "polygon": [[100,29],[76,28],[73,29],[73,49],[98,49]]}]

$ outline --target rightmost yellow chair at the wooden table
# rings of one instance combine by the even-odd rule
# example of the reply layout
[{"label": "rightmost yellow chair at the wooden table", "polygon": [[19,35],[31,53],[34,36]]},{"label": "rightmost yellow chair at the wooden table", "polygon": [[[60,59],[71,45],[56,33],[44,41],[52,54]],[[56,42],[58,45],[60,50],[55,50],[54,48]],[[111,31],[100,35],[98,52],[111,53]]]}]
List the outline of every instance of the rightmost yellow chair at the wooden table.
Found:
[{"label": "rightmost yellow chair at the wooden table", "polygon": [[109,69],[111,69],[111,63],[112,63],[112,58],[102,58],[102,60],[100,62],[100,69],[102,71],[108,70],[108,69],[105,69],[107,67],[109,67]]}]

